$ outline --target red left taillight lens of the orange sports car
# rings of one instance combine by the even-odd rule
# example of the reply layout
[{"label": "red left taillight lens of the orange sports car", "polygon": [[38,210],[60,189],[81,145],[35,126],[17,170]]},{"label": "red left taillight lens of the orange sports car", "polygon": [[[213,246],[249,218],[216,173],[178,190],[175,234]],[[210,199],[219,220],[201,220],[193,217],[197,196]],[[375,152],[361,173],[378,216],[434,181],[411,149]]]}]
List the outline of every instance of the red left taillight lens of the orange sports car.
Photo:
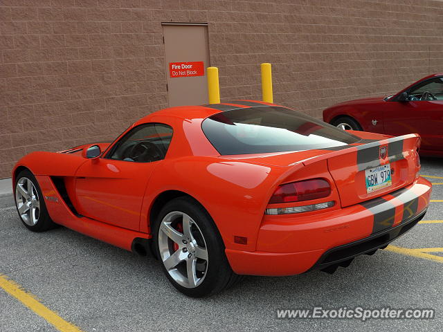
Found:
[{"label": "red left taillight lens of the orange sports car", "polygon": [[270,204],[310,201],[323,199],[331,194],[331,186],[323,178],[284,183],[280,185],[269,200]]}]

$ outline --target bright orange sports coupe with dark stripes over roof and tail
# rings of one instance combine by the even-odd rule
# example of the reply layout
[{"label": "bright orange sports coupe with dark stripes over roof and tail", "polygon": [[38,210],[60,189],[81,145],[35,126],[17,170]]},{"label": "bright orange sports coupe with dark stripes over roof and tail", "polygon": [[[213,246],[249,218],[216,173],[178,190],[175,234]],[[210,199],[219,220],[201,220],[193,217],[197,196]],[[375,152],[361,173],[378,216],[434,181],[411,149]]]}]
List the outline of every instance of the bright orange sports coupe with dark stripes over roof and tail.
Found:
[{"label": "bright orange sports coupe with dark stripes over roof and tail", "polygon": [[333,272],[423,218],[419,136],[345,132],[251,100],[163,109],[114,142],[33,152],[12,174],[17,211],[154,255],[182,293],[239,275]]}]

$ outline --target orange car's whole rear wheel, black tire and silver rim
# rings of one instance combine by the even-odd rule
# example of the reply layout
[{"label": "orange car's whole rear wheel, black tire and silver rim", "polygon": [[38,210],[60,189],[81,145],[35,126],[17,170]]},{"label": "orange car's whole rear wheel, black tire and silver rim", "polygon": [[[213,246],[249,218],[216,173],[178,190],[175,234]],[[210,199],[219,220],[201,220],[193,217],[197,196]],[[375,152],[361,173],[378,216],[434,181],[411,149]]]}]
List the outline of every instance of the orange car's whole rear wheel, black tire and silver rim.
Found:
[{"label": "orange car's whole rear wheel, black tire and silver rim", "polygon": [[154,243],[163,272],[185,295],[213,295],[239,277],[230,268],[213,220],[191,198],[179,197],[163,207],[154,225]]}]

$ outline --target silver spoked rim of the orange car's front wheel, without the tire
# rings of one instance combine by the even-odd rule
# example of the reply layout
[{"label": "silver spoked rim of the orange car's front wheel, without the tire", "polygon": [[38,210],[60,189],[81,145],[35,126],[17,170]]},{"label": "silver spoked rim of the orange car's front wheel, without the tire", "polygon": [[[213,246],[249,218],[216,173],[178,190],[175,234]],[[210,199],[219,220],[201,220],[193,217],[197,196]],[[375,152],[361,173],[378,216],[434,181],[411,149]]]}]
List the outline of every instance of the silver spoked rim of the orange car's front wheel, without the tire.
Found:
[{"label": "silver spoked rim of the orange car's front wheel, without the tire", "polygon": [[21,219],[26,225],[33,226],[39,221],[40,201],[37,189],[29,178],[23,177],[15,186],[15,203]]}]

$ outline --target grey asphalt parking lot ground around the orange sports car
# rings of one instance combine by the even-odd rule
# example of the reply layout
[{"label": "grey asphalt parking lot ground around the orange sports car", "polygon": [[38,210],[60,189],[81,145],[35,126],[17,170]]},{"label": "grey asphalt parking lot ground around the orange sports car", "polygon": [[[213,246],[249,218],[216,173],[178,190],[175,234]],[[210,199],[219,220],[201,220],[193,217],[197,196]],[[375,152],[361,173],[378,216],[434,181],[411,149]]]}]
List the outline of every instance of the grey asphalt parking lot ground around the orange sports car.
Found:
[{"label": "grey asphalt parking lot ground around the orange sports car", "polygon": [[[388,250],[355,259],[334,275],[246,277],[208,299],[178,293],[154,259],[138,257],[66,228],[29,232],[8,197],[0,199],[0,331],[392,330],[441,331],[443,326],[443,162],[422,158],[437,183],[424,221]],[[6,206],[5,206],[6,205]],[[430,249],[431,248],[431,249]],[[3,282],[3,286],[5,282]],[[3,287],[5,288],[5,287]],[[23,295],[25,294],[25,295]],[[23,300],[31,295],[40,307]],[[26,306],[29,306],[29,308]],[[432,320],[279,320],[280,308],[433,308]],[[48,317],[47,315],[45,317]]]}]

